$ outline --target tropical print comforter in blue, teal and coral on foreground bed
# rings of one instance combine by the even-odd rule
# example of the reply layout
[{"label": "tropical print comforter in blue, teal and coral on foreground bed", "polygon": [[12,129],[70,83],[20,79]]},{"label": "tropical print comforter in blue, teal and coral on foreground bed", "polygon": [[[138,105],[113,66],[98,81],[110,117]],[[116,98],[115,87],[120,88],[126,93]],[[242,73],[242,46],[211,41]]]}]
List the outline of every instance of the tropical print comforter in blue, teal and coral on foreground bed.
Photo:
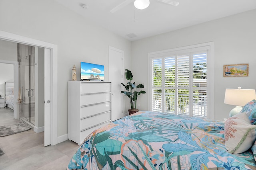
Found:
[{"label": "tropical print comforter in blue, teal and coral on foreground bed", "polygon": [[68,170],[250,170],[252,152],[226,152],[224,122],[140,111],[93,131]]}]

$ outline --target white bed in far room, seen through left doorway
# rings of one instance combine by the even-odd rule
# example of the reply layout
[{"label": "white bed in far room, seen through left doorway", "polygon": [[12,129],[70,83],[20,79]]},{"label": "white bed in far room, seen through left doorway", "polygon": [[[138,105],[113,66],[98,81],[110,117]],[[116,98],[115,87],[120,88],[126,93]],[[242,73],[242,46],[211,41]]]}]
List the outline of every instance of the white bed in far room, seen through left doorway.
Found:
[{"label": "white bed in far room, seen through left doorway", "polygon": [[14,82],[5,82],[5,106],[14,107]]}]

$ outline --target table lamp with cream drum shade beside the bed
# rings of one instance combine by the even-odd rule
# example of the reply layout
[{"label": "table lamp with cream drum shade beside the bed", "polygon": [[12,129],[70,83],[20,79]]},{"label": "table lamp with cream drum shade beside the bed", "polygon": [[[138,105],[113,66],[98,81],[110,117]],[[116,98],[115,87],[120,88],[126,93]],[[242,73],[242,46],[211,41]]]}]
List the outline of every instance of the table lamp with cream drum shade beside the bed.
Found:
[{"label": "table lamp with cream drum shade beside the bed", "polygon": [[236,106],[230,111],[229,117],[240,113],[242,106],[253,99],[256,99],[254,89],[241,89],[241,87],[238,87],[237,89],[227,88],[225,92],[224,103]]}]

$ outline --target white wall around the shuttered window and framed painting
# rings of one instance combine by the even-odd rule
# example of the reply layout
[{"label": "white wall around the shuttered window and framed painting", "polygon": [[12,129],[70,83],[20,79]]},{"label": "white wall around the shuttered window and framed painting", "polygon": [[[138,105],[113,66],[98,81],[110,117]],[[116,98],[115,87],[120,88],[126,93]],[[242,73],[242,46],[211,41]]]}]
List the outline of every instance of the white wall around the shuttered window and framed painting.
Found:
[{"label": "white wall around the shuttered window and framed painting", "polygon": [[[132,42],[132,72],[148,92],[148,53],[215,42],[215,119],[227,118],[235,106],[224,104],[226,88],[256,89],[256,10],[178,29]],[[171,24],[171,23],[170,23]],[[224,64],[249,63],[248,77],[223,77]],[[138,98],[140,110],[148,109],[148,93]]]}]

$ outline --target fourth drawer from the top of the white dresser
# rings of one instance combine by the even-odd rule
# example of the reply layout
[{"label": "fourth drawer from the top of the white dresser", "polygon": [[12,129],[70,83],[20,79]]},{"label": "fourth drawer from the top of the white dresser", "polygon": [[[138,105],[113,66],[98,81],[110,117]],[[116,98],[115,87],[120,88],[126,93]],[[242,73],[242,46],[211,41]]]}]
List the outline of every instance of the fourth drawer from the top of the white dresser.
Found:
[{"label": "fourth drawer from the top of the white dresser", "polygon": [[80,120],[81,131],[111,120],[111,111]]}]

